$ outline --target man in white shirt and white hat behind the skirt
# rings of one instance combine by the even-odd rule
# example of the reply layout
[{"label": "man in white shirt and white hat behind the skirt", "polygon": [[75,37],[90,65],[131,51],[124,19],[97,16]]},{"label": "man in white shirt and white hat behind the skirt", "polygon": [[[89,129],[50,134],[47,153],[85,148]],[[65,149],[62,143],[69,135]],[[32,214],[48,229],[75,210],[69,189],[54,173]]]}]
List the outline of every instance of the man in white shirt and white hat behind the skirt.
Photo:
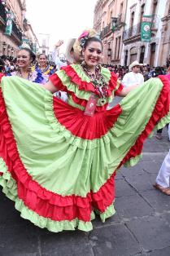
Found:
[{"label": "man in white shirt and white hat behind the skirt", "polygon": [[141,66],[142,64],[139,64],[137,60],[133,61],[133,63],[129,65],[130,72],[124,75],[122,80],[123,86],[139,86],[144,82],[144,77],[142,73],[140,73]]}]

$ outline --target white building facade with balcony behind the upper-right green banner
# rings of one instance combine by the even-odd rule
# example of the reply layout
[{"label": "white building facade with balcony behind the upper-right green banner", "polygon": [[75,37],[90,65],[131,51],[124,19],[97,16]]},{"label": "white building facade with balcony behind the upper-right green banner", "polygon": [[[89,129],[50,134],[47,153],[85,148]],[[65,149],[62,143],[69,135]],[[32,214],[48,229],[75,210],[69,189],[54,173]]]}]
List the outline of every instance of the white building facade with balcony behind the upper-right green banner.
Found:
[{"label": "white building facade with balcony behind the upper-right green banner", "polygon": [[[120,64],[129,65],[134,60],[140,63],[159,66],[159,51],[161,33],[163,29],[162,18],[165,13],[166,4],[169,0],[129,0],[126,10],[126,26],[123,34],[123,51]],[[151,15],[151,38],[150,42],[141,41],[142,16]]]}]

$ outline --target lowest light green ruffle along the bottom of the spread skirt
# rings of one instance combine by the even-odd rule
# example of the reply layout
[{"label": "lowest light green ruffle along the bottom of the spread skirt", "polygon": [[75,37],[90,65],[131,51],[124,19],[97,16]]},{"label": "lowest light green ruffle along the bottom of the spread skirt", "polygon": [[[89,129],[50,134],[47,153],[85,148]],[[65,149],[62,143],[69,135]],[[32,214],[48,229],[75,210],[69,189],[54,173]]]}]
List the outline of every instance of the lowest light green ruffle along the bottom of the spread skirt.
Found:
[{"label": "lowest light green ruffle along the bottom of the spread skirt", "polygon": [[[70,221],[54,221],[50,218],[44,218],[33,210],[28,209],[28,207],[24,205],[24,202],[18,198],[15,180],[11,178],[11,174],[7,172],[7,166],[5,166],[5,163],[1,160],[0,170],[2,170],[2,176],[0,176],[0,185],[3,188],[2,192],[12,201],[15,201],[15,209],[20,211],[20,216],[22,218],[28,219],[37,227],[46,227],[50,232],[62,232],[63,230],[71,231],[75,229],[89,232],[93,229],[92,223],[90,221],[85,222],[79,218],[74,218]],[[102,222],[104,222],[106,218],[111,217],[113,214],[115,214],[116,211],[114,209],[114,205],[111,204],[104,212],[99,212],[98,210],[96,210],[96,212],[100,215]],[[94,220],[94,218],[94,211],[91,211],[90,220]]]}]

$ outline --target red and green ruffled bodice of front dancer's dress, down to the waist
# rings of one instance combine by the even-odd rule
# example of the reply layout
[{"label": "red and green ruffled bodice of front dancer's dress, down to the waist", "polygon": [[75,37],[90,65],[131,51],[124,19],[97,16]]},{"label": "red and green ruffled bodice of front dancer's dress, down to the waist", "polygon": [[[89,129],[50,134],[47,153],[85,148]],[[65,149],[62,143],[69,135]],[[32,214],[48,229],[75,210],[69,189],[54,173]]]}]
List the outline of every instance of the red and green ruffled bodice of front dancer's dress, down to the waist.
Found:
[{"label": "red and green ruffled bodice of front dancer's dress, down to the waist", "polygon": [[79,64],[72,64],[71,66],[61,68],[61,70],[50,77],[50,81],[58,90],[67,91],[68,104],[81,110],[85,110],[90,95],[94,93],[98,96],[95,111],[100,112],[106,110],[114,95],[119,95],[123,88],[115,73],[111,73],[107,68],[101,68],[101,73],[107,84],[105,98],[101,97],[99,91],[96,90],[94,84]]}]

